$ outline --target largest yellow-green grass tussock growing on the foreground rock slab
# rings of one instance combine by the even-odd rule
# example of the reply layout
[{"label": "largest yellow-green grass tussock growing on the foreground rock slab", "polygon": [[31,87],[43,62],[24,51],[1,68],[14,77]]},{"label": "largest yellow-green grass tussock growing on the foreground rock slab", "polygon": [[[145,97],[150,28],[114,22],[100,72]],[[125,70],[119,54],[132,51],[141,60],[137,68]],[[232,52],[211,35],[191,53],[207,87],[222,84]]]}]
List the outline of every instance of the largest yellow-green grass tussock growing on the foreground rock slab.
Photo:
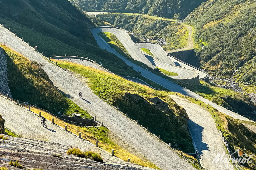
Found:
[{"label": "largest yellow-green grass tussock growing on the foreground rock slab", "polygon": [[76,155],[76,156],[81,157],[81,158],[89,158],[89,159],[92,159],[92,160],[98,161],[98,162],[103,162],[100,154],[92,152],[92,151],[83,152],[78,148],[70,148],[68,150],[67,154]]}]

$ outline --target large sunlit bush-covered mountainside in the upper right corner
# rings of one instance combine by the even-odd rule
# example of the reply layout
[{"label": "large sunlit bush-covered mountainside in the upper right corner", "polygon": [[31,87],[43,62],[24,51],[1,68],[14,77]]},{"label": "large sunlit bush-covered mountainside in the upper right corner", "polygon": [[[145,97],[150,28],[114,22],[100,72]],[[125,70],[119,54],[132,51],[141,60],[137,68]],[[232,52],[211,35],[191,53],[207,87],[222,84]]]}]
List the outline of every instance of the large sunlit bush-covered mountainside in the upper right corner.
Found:
[{"label": "large sunlit bush-covered mountainside in the upper right corner", "polygon": [[[255,57],[255,13],[253,0],[216,0],[203,3],[186,19],[195,27],[197,56],[211,75],[228,77]],[[254,67],[247,73],[242,69],[238,77],[242,73],[246,77],[239,82],[253,84],[254,72]]]}]

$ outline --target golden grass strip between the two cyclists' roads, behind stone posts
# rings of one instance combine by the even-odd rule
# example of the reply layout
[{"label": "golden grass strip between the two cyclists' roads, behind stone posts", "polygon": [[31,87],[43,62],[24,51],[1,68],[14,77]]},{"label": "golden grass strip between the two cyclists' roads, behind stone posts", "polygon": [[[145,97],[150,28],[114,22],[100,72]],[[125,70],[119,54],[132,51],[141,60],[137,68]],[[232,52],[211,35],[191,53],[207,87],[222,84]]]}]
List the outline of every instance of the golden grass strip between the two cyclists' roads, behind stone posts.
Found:
[{"label": "golden grass strip between the two cyclists' roads, behind stone posts", "polygon": [[[119,145],[115,144],[111,139],[108,137],[109,129],[105,127],[79,127],[72,124],[68,124],[57,117],[54,117],[42,110],[39,110],[37,108],[31,107],[31,111],[37,113],[39,115],[39,112],[41,112],[41,115],[45,117],[45,119],[52,121],[52,118],[54,118],[54,123],[65,128],[67,125],[68,131],[72,132],[76,135],[79,135],[79,132],[81,132],[81,137],[85,140],[90,141],[91,143],[96,143],[96,141],[99,141],[99,147],[108,151],[112,152],[112,149],[115,150],[115,155],[119,158],[121,158],[124,161],[127,161],[128,158],[131,159],[132,163],[136,163],[142,166],[147,166],[151,168],[157,168],[156,165],[154,165],[152,162],[145,158],[140,158],[127,150],[123,149]],[[95,151],[99,152],[99,150]]]}]

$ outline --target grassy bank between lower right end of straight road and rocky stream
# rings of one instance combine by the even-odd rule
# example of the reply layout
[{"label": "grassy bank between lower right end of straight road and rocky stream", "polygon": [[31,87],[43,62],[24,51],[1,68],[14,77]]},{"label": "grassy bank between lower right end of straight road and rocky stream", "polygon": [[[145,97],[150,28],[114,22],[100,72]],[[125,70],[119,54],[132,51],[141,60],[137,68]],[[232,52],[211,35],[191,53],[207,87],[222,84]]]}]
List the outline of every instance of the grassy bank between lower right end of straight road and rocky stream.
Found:
[{"label": "grassy bank between lower right end of straight road and rocky stream", "polygon": [[207,98],[220,106],[238,112],[241,115],[255,119],[256,117],[251,114],[256,110],[255,105],[251,102],[250,98],[243,93],[233,91],[231,89],[225,89],[217,87],[213,84],[200,81],[199,85],[181,84],[183,87],[187,87],[191,91],[195,91],[196,94]]}]

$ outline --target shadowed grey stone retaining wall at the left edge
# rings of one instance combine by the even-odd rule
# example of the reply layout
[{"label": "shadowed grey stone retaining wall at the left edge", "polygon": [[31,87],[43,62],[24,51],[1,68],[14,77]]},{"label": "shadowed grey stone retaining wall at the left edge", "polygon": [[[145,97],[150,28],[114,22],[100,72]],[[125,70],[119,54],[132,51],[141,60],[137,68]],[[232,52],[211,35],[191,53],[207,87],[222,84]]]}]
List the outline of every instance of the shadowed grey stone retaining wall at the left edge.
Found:
[{"label": "shadowed grey stone retaining wall at the left edge", "polygon": [[12,94],[8,85],[8,68],[7,68],[7,59],[6,53],[3,48],[0,47],[0,93],[3,95],[9,95],[12,98]]}]

